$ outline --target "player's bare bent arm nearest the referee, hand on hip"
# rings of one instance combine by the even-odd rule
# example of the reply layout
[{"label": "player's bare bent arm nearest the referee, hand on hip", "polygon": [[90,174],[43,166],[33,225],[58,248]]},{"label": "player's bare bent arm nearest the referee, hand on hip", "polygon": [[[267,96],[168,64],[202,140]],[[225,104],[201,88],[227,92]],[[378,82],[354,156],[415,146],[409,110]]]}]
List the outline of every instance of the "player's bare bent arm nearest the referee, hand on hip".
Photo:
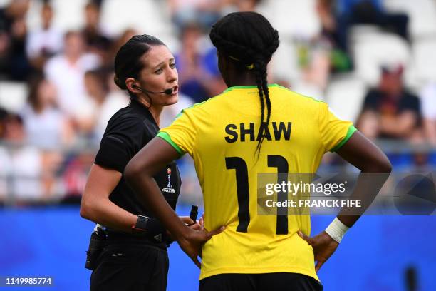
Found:
[{"label": "player's bare bent arm nearest the referee, hand on hip", "polygon": [[162,138],[153,138],[142,148],[125,167],[125,180],[138,197],[159,218],[180,247],[200,267],[198,257],[202,246],[212,235],[221,233],[224,227],[214,231],[192,230],[178,219],[177,214],[167,203],[153,176],[168,163],[179,158],[175,148]]}]

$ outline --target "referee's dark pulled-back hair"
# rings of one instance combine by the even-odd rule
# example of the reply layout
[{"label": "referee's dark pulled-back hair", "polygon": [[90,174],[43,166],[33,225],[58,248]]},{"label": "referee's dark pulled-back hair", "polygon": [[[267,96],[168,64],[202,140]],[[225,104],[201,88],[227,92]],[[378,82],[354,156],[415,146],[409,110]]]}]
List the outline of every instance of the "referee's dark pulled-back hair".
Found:
[{"label": "referee's dark pulled-back hair", "polygon": [[[118,50],[115,56],[115,77],[113,81],[122,90],[128,90],[125,86],[127,78],[137,78],[139,72],[144,67],[140,58],[144,56],[147,51],[150,51],[152,46],[165,46],[165,44],[157,39],[155,36],[148,34],[132,36],[123,46]],[[128,91],[131,98],[135,98],[135,94]]]}]

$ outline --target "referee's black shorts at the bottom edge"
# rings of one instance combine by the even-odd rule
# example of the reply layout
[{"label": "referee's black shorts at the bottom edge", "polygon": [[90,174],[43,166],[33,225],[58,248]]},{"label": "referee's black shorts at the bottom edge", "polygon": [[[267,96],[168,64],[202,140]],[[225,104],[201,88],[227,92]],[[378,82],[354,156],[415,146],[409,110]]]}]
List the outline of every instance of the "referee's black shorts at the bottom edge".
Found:
[{"label": "referee's black shorts at the bottom edge", "polygon": [[90,278],[90,290],[165,291],[168,254],[150,245],[108,245]]}]

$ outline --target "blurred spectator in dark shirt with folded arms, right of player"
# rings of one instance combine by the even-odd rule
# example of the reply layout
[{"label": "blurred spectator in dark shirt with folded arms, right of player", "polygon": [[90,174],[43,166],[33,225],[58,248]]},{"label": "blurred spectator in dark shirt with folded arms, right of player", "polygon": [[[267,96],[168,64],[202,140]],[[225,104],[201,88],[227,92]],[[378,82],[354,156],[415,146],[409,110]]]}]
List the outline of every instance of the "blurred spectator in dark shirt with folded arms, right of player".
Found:
[{"label": "blurred spectator in dark shirt with folded arms, right of player", "polygon": [[384,66],[380,83],[365,96],[359,130],[370,138],[417,140],[421,135],[417,96],[405,90],[403,66]]}]

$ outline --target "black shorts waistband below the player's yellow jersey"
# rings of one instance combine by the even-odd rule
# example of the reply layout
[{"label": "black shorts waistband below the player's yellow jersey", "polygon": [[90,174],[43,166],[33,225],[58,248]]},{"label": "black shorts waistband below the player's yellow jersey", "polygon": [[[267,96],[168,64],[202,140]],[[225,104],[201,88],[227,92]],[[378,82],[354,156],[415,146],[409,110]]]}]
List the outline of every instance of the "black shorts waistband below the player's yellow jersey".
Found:
[{"label": "black shorts waistband below the player's yellow jersey", "polygon": [[302,274],[219,274],[200,280],[199,291],[322,291],[320,282]]}]

